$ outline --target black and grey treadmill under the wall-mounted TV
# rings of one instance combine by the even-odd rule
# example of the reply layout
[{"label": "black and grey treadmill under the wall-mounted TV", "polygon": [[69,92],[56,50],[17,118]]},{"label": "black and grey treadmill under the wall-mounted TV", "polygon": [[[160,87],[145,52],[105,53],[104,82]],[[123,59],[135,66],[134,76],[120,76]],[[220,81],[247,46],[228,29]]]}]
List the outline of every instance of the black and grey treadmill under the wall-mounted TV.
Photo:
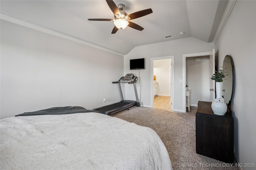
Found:
[{"label": "black and grey treadmill under the wall-mounted TV", "polygon": [[[114,81],[112,83],[118,83],[119,86],[119,91],[122,97],[122,100],[118,103],[114,103],[111,105],[106,105],[103,107],[99,107],[96,109],[93,109],[94,111],[98,111],[100,113],[103,113],[105,115],[112,115],[116,112],[122,111],[124,109],[128,109],[131,107],[139,107],[140,106],[140,102],[138,99],[138,94],[137,94],[137,89],[136,89],[136,82],[137,82],[137,77],[134,76],[133,74],[126,74],[124,77],[121,77],[118,81]],[[134,87],[134,92],[135,92],[135,97],[136,97],[136,101],[132,101],[132,100],[124,100],[124,96],[122,93],[122,88],[121,88],[121,84],[120,83],[128,83],[128,84],[133,84]]]}]

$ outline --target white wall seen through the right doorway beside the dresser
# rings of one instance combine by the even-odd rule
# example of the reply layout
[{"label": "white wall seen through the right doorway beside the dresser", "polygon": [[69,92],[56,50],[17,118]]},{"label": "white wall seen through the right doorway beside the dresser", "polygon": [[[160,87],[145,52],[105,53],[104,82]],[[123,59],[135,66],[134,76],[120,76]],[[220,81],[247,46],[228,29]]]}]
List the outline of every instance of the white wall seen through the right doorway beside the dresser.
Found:
[{"label": "white wall seen through the right doorway beside the dresser", "polygon": [[[200,58],[201,61],[195,61]],[[210,56],[186,57],[186,84],[191,90],[191,105],[210,99]]]}]

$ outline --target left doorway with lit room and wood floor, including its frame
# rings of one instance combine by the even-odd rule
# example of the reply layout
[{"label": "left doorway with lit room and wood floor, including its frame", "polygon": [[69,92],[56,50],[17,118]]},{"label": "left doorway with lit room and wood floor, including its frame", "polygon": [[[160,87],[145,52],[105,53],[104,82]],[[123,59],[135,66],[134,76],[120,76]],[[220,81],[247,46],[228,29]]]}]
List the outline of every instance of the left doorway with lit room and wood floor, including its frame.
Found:
[{"label": "left doorway with lit room and wood floor, including its frame", "polygon": [[172,110],[174,56],[151,58],[151,107]]}]

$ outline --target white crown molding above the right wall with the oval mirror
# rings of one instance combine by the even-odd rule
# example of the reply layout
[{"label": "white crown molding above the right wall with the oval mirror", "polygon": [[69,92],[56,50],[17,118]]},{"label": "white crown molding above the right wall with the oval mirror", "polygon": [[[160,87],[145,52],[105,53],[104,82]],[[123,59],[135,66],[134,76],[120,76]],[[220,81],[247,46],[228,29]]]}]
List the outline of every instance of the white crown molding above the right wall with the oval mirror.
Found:
[{"label": "white crown molding above the right wall with the oval mirror", "polygon": [[226,10],[225,10],[225,12],[224,12],[224,14],[222,16],[221,21],[220,21],[220,25],[219,25],[218,30],[216,31],[216,34],[215,34],[214,39],[212,41],[214,44],[216,44],[216,42],[217,42],[217,40],[218,40],[222,30],[223,30],[223,28],[224,28],[228,18],[229,18],[230,14],[231,14],[231,12],[232,12],[232,10],[234,8],[234,6],[236,4],[236,1],[237,0],[229,0],[228,1]]}]

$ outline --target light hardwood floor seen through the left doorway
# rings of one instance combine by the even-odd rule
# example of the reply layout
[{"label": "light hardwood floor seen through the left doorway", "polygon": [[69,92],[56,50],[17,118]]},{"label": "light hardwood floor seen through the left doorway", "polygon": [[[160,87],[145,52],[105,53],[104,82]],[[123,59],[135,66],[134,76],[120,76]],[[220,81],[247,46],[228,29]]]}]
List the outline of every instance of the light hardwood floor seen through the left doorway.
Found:
[{"label": "light hardwood floor seen through the left doorway", "polygon": [[171,97],[168,96],[155,96],[154,108],[172,110]]}]

